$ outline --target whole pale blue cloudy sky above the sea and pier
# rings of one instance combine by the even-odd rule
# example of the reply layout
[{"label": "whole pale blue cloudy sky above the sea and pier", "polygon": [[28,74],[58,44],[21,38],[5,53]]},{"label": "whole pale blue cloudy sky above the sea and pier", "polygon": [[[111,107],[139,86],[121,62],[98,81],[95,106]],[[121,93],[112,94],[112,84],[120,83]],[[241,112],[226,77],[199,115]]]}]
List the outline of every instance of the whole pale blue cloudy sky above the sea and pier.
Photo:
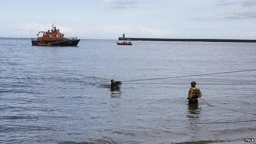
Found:
[{"label": "whole pale blue cloudy sky above the sea and pier", "polygon": [[256,0],[0,0],[0,37],[256,39]]}]

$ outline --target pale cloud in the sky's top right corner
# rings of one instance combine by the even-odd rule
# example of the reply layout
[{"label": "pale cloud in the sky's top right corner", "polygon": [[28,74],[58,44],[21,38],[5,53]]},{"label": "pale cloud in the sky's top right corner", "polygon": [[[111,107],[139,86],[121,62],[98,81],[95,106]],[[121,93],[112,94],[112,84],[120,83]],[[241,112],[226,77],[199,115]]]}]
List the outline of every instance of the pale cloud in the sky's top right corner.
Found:
[{"label": "pale cloud in the sky's top right corner", "polygon": [[218,11],[216,14],[206,14],[204,16],[194,17],[191,20],[196,21],[216,21],[216,20],[234,20],[234,19],[251,19],[256,18],[256,1],[242,0],[232,1],[219,0],[217,5],[233,5],[239,4],[238,9],[229,11]]}]

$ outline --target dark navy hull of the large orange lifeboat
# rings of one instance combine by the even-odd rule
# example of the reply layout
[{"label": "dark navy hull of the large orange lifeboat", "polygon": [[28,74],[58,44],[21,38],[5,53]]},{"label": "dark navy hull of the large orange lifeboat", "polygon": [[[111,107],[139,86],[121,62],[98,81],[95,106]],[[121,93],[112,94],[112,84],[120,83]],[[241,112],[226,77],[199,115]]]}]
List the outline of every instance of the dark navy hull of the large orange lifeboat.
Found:
[{"label": "dark navy hull of the large orange lifeboat", "polygon": [[31,41],[32,45],[50,45],[50,46],[77,46],[80,39],[66,41]]}]

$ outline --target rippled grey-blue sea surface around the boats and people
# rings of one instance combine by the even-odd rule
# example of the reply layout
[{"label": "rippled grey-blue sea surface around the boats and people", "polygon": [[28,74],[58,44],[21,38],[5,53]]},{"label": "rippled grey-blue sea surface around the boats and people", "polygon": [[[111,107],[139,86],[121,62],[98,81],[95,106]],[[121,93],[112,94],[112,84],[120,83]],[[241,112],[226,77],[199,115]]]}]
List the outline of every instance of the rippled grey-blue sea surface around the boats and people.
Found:
[{"label": "rippled grey-blue sea surface around the boats and people", "polygon": [[[256,69],[256,43],[116,42],[82,39],[77,47],[54,47],[0,38],[0,143],[243,144],[256,138],[256,121],[191,124],[256,115],[186,99],[196,81],[207,103],[255,113],[256,85],[241,84],[255,84],[256,71],[133,82],[163,85],[123,82],[115,91],[108,80],[80,76],[125,81]],[[228,83],[236,85],[216,85]]]}]

